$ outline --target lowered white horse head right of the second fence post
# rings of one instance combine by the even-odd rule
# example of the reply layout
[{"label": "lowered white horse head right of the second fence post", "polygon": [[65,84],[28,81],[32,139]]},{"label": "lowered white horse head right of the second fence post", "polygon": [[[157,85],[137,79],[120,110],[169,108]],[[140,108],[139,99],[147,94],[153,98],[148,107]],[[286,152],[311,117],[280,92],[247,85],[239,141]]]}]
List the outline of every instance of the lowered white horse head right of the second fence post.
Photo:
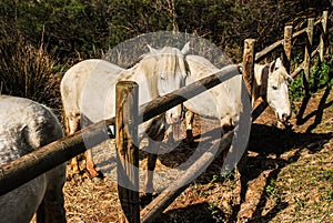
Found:
[{"label": "lowered white horse head right of the second fence post", "polygon": [[291,116],[289,83],[292,77],[287,73],[280,58],[269,64],[266,101],[275,111],[278,120],[287,123]]}]

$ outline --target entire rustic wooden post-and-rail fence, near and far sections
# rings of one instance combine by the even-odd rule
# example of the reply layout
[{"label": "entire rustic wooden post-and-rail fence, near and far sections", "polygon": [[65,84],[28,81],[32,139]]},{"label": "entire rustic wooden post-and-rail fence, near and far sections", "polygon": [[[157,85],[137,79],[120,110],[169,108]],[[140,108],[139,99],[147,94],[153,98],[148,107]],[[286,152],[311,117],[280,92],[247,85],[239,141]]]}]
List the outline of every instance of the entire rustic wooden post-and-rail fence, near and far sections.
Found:
[{"label": "entire rustic wooden post-and-rail fence, near and far sections", "polygon": [[[322,30],[320,44],[313,50],[313,29],[314,26],[319,26]],[[273,52],[278,48],[283,45],[283,57],[287,64],[291,61],[291,49],[292,40],[306,34],[306,47],[304,61],[293,71],[291,74],[295,77],[302,70],[305,73],[305,81],[310,77],[310,59],[314,57],[317,52],[320,60],[324,58],[325,49],[325,37],[327,30],[327,11],[323,12],[322,19],[320,21],[314,21],[314,19],[307,20],[307,28],[292,33],[293,28],[291,26],[284,29],[284,39],[280,40],[272,45],[265,48],[263,51],[255,53],[254,44],[255,40],[250,39],[244,42],[244,53],[243,53],[243,75],[253,80],[253,67],[254,62],[261,61],[265,55]],[[290,65],[287,65],[290,69]],[[195,97],[196,94],[203,92],[203,89],[210,89],[214,85],[230,79],[234,74],[238,74],[238,65],[231,65],[223,68],[218,73],[214,73],[208,78],[196,81],[188,87],[179,89],[170,94],[161,97],[152,102],[149,102],[138,109],[137,98],[138,98],[138,85],[132,82],[122,82],[117,87],[117,118],[101,121],[99,123],[92,124],[87,129],[83,129],[73,135],[65,136],[56,142],[52,142],[30,154],[27,154],[18,160],[12,161],[6,165],[0,166],[0,195],[22,185],[23,183],[32,180],[33,178],[49,171],[50,169],[59,165],[60,163],[67,162],[71,158],[79,155],[90,148],[85,148],[84,141],[89,140],[93,142],[91,146],[100,144],[108,139],[108,126],[115,124],[117,131],[117,150],[120,156],[118,162],[118,173],[122,176],[122,180],[131,182],[133,189],[138,189],[138,170],[133,166],[138,166],[139,162],[139,151],[135,148],[137,138],[135,128],[129,128],[128,125],[140,124],[144,121],[154,118],[155,115],[168,111],[169,109],[184,102],[186,99]],[[306,84],[306,82],[305,82]],[[202,88],[205,87],[205,88]],[[246,85],[248,91],[252,92],[252,84]],[[305,87],[306,88],[306,87]],[[122,93],[120,93],[122,92]],[[130,97],[128,97],[130,95]],[[124,100],[128,99],[128,100]],[[252,119],[255,120],[262,111],[266,108],[266,103],[262,103],[256,107],[252,112]],[[131,111],[131,112],[127,112]],[[139,122],[135,116],[143,116],[142,122]],[[123,131],[124,126],[128,130]],[[119,196],[123,207],[123,220],[124,222],[151,222],[157,214],[161,213],[185,187],[190,176],[193,176],[194,172],[198,170],[203,170],[206,168],[206,163],[214,159],[212,154],[219,154],[223,149],[230,146],[233,132],[225,134],[221,139],[222,146],[211,148],[206,151],[188,171],[182,174],[176,182],[172,183],[167,187],[151,204],[145,206],[141,212],[139,207],[139,194],[138,190],[128,190],[119,186]],[[83,140],[84,139],[84,140]],[[212,150],[214,150],[212,152]],[[133,165],[129,165],[132,163]],[[196,170],[196,171],[195,171]],[[181,186],[180,186],[181,185]]]}]

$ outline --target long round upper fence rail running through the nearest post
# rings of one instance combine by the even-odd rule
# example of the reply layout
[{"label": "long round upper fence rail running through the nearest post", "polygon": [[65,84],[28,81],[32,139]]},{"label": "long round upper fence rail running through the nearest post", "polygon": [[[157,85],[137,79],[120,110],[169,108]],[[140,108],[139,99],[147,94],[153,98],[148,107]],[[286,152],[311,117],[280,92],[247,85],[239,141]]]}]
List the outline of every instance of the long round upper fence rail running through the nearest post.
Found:
[{"label": "long round upper fence rail running through the nearest post", "polygon": [[[202,80],[158,98],[154,101],[142,104],[139,109],[139,116],[143,116],[143,119],[139,119],[141,122],[138,124],[168,111],[236,74],[240,74],[240,67],[228,65]],[[102,143],[109,139],[108,126],[114,125],[114,123],[115,118],[94,123],[72,135],[54,141],[37,151],[0,166],[0,195],[27,183],[52,168],[67,162],[85,150]],[[85,148],[84,141],[89,141],[91,148]]]}]

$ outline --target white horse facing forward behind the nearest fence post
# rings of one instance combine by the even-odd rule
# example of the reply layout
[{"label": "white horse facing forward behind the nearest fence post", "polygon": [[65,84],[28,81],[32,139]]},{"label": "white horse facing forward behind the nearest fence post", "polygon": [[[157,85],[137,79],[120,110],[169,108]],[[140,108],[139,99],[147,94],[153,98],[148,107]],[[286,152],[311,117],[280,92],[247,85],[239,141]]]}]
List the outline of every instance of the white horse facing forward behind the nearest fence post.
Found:
[{"label": "white horse facing forward behind the nearest fence post", "polygon": [[[189,43],[182,50],[170,47],[149,49],[150,52],[128,70],[103,60],[85,60],[67,71],[61,81],[61,98],[68,134],[79,130],[79,122],[83,116],[90,122],[98,122],[115,115],[114,89],[119,81],[130,80],[139,83],[139,105],[184,85],[189,75],[185,61]],[[173,124],[180,120],[180,115],[181,105],[149,121],[148,124],[140,125],[139,140],[148,134],[150,145],[154,141],[161,141],[165,130],[164,120],[168,124]],[[154,161],[150,162],[151,155],[148,161],[149,170],[154,168]],[[85,160],[90,175],[97,176],[90,150],[85,152]],[[74,173],[79,173],[75,159],[72,160],[72,169]],[[148,178],[152,176],[149,174]]]}]

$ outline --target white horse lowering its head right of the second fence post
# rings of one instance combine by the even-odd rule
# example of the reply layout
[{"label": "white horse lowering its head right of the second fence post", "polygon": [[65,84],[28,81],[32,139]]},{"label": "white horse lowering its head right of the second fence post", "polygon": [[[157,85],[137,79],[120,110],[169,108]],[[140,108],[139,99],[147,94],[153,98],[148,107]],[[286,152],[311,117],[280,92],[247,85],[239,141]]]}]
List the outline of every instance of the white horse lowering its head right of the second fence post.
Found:
[{"label": "white horse lowering its head right of the second fence post", "polygon": [[[220,71],[209,60],[199,55],[188,55],[186,61],[191,71],[191,77],[186,79],[186,84]],[[265,65],[255,64],[254,79],[252,104],[258,98],[262,97],[275,111],[278,120],[285,123],[291,115],[287,84],[292,78],[286,72],[281,60],[276,59],[276,61]],[[184,102],[184,107],[189,110],[185,114],[185,128],[186,138],[190,142],[193,140],[193,112],[202,116],[220,119],[223,132],[234,126],[242,111],[242,75],[235,75],[210,89],[208,92]],[[172,130],[169,128],[168,138],[172,138],[171,132]]]}]

